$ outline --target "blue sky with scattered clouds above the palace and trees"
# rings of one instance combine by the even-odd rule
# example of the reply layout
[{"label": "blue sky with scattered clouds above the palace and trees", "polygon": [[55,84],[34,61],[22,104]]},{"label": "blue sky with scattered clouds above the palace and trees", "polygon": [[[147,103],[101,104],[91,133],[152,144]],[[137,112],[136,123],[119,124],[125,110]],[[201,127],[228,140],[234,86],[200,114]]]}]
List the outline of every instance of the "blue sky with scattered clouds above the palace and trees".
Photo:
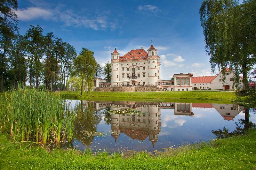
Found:
[{"label": "blue sky with scattered clouds above the palace and trees", "polygon": [[200,26],[201,2],[18,0],[17,15],[20,34],[38,24],[44,35],[53,32],[77,52],[82,47],[92,50],[102,65],[115,47],[121,55],[132,48],[147,51],[153,39],[161,57],[161,79],[170,79],[189,72],[211,75]]}]

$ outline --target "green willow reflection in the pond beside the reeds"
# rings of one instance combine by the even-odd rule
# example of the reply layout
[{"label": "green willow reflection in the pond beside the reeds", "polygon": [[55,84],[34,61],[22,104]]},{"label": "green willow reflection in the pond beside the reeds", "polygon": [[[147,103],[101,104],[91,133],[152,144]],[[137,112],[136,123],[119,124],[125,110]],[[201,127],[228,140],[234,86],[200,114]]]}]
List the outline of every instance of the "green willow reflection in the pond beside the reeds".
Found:
[{"label": "green willow reflection in the pond beside the reeds", "polygon": [[74,109],[77,111],[75,121],[75,137],[86,146],[92,144],[94,136],[84,136],[85,131],[95,133],[97,125],[101,121],[101,112],[94,111],[93,103],[88,102],[86,107],[81,100],[81,103],[76,103]]}]

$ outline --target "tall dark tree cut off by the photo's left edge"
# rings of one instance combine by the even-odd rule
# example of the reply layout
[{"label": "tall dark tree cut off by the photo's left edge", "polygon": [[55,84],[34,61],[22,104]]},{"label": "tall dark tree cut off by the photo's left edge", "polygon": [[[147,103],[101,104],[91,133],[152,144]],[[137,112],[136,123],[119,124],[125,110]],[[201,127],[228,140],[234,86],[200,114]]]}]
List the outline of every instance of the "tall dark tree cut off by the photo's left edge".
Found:
[{"label": "tall dark tree cut off by the photo's left edge", "polygon": [[[0,2],[0,92],[3,92],[4,72],[7,70],[7,54],[12,47],[15,33],[18,33],[17,0],[2,0]],[[5,76],[6,77],[6,76]]]}]

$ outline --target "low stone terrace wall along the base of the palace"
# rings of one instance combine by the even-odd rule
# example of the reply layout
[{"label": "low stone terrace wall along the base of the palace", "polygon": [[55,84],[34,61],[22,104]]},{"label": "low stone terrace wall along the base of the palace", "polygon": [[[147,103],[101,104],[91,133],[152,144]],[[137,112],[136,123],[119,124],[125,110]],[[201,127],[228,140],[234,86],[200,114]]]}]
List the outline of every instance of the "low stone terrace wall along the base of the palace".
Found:
[{"label": "low stone terrace wall along the base of the palace", "polygon": [[94,92],[157,92],[166,91],[157,86],[117,86],[117,87],[96,87]]}]

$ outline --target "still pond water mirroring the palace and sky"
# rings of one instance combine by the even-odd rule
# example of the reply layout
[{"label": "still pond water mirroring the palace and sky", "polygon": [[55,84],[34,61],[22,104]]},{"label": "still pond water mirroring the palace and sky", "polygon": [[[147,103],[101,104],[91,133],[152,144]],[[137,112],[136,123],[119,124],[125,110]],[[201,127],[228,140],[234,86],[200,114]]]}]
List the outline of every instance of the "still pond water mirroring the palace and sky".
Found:
[{"label": "still pond water mirroring the palace and sky", "polygon": [[[72,147],[79,150],[153,152],[181,144],[215,139],[218,129],[232,132],[245,119],[233,104],[67,100],[77,110]],[[140,115],[110,114],[132,108]],[[256,123],[255,109],[250,121]],[[241,125],[242,127],[244,125]],[[215,132],[214,132],[215,131]],[[214,133],[213,133],[214,132]]]}]

